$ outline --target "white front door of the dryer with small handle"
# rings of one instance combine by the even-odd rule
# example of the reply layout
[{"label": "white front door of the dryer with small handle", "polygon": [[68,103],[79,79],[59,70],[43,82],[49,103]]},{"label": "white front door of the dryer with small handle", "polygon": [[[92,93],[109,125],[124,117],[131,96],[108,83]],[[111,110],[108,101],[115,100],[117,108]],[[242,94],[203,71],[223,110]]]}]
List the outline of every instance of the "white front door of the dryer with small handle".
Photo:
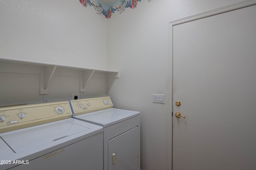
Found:
[{"label": "white front door of the dryer with small handle", "polygon": [[134,127],[108,141],[108,170],[124,170],[138,158],[138,134],[138,127]]}]

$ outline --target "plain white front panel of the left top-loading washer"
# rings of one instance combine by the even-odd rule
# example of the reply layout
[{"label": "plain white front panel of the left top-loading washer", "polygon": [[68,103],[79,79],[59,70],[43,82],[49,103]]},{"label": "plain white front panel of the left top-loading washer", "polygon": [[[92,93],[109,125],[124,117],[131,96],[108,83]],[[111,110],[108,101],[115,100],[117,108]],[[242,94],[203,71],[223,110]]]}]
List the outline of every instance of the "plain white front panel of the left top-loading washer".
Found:
[{"label": "plain white front panel of the left top-loading washer", "polygon": [[101,132],[30,160],[29,164],[11,168],[11,170],[102,170],[102,140]]}]

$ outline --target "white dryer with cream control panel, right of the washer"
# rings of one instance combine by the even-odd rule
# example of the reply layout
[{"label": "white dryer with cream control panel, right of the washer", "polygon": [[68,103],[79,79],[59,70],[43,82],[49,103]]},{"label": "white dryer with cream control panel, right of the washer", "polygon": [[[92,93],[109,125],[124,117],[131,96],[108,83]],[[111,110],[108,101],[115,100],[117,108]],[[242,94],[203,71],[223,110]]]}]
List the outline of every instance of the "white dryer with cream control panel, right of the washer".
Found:
[{"label": "white dryer with cream control panel, right of the washer", "polygon": [[112,108],[110,97],[70,106],[73,118],[103,127],[104,170],[140,170],[140,112]]}]

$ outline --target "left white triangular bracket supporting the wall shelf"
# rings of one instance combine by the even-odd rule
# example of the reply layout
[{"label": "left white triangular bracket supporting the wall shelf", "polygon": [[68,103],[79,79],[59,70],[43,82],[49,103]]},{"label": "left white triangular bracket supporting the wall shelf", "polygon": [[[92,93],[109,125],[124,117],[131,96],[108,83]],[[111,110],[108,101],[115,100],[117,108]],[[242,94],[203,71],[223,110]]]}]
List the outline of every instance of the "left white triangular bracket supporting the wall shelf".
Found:
[{"label": "left white triangular bracket supporting the wall shelf", "polygon": [[56,70],[57,66],[45,66],[44,74],[40,74],[40,94],[48,94],[49,82]]}]

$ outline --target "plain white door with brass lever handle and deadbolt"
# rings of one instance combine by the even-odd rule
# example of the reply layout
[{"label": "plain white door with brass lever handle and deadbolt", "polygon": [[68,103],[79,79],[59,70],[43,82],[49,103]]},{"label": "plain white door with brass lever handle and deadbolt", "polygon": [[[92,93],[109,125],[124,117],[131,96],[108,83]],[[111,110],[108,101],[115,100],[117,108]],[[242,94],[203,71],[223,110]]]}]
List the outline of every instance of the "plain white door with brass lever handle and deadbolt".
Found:
[{"label": "plain white door with brass lever handle and deadbolt", "polygon": [[256,168],[256,5],[173,27],[173,103],[173,170]]}]

